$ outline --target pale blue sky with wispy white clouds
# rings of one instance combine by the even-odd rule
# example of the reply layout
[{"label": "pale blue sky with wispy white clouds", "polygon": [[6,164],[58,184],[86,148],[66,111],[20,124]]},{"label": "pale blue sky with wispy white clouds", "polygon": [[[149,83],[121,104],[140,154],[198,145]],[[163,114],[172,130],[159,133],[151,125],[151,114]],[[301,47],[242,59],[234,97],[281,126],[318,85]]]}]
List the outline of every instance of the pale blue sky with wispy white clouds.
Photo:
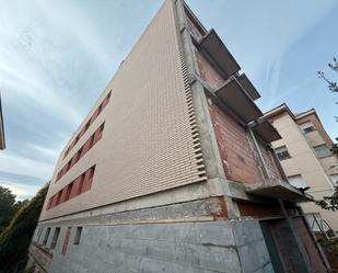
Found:
[{"label": "pale blue sky with wispy white clouds", "polygon": [[[187,0],[213,27],[257,90],[265,112],[315,107],[338,136],[338,95],[317,78],[338,57],[336,0]],[[0,185],[32,197],[160,0],[0,0],[0,91],[7,149]]]}]

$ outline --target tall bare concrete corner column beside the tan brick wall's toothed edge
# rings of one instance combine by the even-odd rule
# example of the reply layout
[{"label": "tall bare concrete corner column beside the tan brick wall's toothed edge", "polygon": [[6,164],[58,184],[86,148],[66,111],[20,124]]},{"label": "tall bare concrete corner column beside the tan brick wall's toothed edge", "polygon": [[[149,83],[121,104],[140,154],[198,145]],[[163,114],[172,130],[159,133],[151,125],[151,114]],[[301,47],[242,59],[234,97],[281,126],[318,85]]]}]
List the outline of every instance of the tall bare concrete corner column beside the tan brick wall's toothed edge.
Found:
[{"label": "tall bare concrete corner column beside the tan brick wall's toothed edge", "polygon": [[[208,185],[210,195],[230,196],[229,189],[225,185],[226,178],[222,166],[217,138],[214,135],[212,121],[209,114],[209,106],[205,93],[203,86],[199,82],[197,77],[197,60],[195,56],[195,48],[193,45],[190,33],[187,30],[186,14],[184,3],[182,0],[176,0],[176,16],[179,30],[179,43],[182,43],[184,59],[186,62],[188,79],[191,88],[193,103],[196,113],[196,122],[200,136],[200,144],[202,156],[208,177]],[[236,217],[235,209],[231,197],[225,197],[228,215],[231,218]]]}]

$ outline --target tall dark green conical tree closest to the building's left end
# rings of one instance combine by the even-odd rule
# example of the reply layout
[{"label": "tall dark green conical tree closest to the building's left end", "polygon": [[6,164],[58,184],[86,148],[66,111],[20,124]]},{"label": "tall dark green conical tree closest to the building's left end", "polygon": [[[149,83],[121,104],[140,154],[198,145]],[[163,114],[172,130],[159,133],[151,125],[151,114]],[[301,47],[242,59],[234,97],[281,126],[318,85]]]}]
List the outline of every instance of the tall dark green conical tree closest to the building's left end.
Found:
[{"label": "tall dark green conical tree closest to the building's left end", "polygon": [[46,184],[16,212],[10,225],[0,235],[0,273],[16,273],[24,269],[31,238],[43,208],[48,185]]}]

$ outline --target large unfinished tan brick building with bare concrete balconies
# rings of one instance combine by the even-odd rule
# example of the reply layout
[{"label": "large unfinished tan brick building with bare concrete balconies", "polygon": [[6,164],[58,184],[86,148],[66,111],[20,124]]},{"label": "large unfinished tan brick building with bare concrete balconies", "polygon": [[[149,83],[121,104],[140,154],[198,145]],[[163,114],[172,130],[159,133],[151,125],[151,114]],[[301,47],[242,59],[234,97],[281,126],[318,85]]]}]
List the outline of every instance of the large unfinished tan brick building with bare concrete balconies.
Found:
[{"label": "large unfinished tan brick building with bare concrete balconies", "polygon": [[327,272],[240,69],[164,1],[59,157],[36,272]]}]

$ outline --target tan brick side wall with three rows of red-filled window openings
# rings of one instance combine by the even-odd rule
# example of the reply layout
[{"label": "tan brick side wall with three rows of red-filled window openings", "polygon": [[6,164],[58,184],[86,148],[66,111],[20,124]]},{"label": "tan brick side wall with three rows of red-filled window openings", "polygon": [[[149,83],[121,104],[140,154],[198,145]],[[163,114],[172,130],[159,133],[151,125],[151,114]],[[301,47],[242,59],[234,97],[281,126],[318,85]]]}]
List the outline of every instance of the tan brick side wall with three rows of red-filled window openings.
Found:
[{"label": "tan brick side wall with three rows of red-filled window openings", "polygon": [[[46,200],[96,164],[91,191],[44,208],[40,219],[206,181],[172,1],[164,2],[88,116],[109,90],[108,105],[70,153],[60,156]],[[102,139],[54,183],[103,122]]]}]

